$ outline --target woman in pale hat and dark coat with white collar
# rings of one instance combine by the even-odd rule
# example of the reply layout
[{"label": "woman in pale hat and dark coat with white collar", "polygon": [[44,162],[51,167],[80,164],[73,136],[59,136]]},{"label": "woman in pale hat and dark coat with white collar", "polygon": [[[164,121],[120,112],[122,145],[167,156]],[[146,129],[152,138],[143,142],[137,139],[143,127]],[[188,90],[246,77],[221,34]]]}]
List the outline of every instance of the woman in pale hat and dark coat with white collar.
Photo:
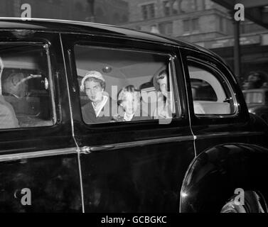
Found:
[{"label": "woman in pale hat and dark coat with white collar", "polygon": [[102,123],[112,120],[117,113],[117,102],[104,92],[105,80],[100,72],[89,71],[81,81],[80,90],[85,91],[90,102],[82,106],[85,123]]}]

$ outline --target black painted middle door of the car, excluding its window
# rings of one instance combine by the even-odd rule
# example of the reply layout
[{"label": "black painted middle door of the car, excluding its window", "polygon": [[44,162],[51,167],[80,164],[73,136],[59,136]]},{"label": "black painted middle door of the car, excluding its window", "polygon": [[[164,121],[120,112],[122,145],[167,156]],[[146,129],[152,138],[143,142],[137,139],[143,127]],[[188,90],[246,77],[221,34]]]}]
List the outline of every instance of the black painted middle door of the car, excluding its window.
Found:
[{"label": "black painted middle door of the car, excluding its window", "polygon": [[[75,62],[72,60],[73,43],[78,41],[84,45],[108,45],[109,48],[137,47],[136,50],[167,52],[172,55],[178,51],[166,45],[146,41],[138,43],[125,38],[68,34],[63,34],[62,38],[67,69],[70,65],[69,70],[73,75],[76,74]],[[176,70],[180,72],[181,67],[178,65]],[[71,78],[74,80],[73,87],[77,87],[76,76]],[[181,92],[185,94],[183,79],[178,79],[178,87],[181,87]],[[73,90],[70,90],[73,109],[80,110],[79,94]],[[181,95],[181,103],[186,103],[185,95]],[[131,123],[129,126],[119,126],[117,123],[86,126],[80,111],[74,111],[75,138],[80,147],[114,145],[114,148],[100,153],[81,155],[85,211],[178,210],[181,188],[178,178],[183,177],[183,172],[194,157],[188,113],[186,106],[182,107],[185,108],[184,118],[174,120],[168,125],[159,125],[158,121],[151,121],[143,124]],[[161,141],[163,138],[177,139],[171,143],[171,139]]]}]

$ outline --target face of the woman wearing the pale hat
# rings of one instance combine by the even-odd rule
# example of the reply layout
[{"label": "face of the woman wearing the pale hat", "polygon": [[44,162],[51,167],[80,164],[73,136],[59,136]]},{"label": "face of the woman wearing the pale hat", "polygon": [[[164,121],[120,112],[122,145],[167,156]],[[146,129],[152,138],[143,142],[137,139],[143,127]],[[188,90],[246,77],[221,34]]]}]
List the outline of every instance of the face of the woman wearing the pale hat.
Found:
[{"label": "face of the woman wearing the pale hat", "polygon": [[88,99],[94,104],[102,101],[104,89],[101,87],[99,82],[86,81],[85,82],[85,93],[87,94]]}]

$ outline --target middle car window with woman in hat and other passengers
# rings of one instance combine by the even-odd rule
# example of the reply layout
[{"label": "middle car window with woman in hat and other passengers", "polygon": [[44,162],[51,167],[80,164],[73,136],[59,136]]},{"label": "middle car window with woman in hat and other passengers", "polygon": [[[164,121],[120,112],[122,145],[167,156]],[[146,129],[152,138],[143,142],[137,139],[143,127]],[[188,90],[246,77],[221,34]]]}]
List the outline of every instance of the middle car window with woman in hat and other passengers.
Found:
[{"label": "middle car window with woman in hat and other passengers", "polygon": [[170,55],[86,45],[74,50],[85,123],[178,118]]}]

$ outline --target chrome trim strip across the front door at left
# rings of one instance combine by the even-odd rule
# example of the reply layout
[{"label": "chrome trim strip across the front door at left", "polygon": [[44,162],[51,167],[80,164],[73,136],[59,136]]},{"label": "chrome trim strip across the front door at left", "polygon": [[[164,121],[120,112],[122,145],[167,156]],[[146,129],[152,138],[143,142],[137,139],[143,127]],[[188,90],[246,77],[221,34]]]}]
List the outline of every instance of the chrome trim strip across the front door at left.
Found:
[{"label": "chrome trim strip across the front door at left", "polygon": [[33,151],[33,152],[28,152],[28,153],[0,155],[0,162],[22,160],[22,159],[35,158],[35,157],[69,155],[69,154],[77,154],[77,148],[62,148],[62,149],[55,149],[55,150],[41,150],[41,151]]}]

